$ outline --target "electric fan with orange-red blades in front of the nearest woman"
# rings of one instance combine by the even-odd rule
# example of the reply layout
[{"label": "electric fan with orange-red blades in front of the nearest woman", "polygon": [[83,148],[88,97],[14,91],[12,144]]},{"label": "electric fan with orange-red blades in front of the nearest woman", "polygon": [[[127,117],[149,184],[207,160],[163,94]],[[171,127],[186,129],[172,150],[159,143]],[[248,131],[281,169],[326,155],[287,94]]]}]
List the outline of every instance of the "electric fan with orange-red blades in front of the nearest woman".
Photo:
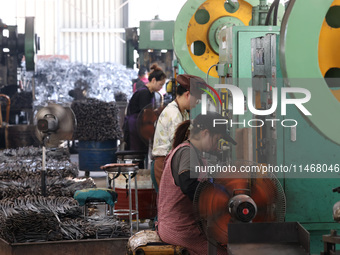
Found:
[{"label": "electric fan with orange-red blades in front of the nearest woman", "polygon": [[258,172],[259,165],[254,162],[235,161],[230,165],[237,171],[255,171],[202,180],[194,197],[200,230],[210,244],[223,248],[228,243],[228,223],[283,222],[286,211],[285,195],[274,174]]}]

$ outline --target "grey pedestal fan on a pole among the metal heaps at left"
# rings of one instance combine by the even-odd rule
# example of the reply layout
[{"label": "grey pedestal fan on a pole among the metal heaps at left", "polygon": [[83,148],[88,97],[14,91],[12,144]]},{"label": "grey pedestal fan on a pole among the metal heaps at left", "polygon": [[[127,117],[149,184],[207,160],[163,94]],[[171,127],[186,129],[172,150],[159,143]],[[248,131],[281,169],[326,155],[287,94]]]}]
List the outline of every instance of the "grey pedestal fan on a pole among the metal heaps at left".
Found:
[{"label": "grey pedestal fan on a pole among the metal heaps at left", "polygon": [[76,118],[71,108],[49,104],[37,112],[34,122],[42,145],[41,191],[46,196],[46,147],[57,148],[61,140],[72,140]]}]

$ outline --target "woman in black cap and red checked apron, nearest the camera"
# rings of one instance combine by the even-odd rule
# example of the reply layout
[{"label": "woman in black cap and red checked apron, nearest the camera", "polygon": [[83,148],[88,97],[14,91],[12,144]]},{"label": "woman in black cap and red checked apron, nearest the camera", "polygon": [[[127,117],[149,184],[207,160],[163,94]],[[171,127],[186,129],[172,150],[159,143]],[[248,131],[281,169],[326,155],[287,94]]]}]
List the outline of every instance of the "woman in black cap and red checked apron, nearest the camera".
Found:
[{"label": "woman in black cap and red checked apron, nearest the camera", "polygon": [[[216,150],[221,138],[236,144],[227,134],[226,125],[213,127],[214,119],[223,117],[207,112],[207,115],[198,115],[192,126],[190,120],[178,126],[159,186],[158,234],[163,242],[183,246],[191,255],[208,254],[208,241],[194,216],[194,194],[202,178],[195,172],[195,166],[204,166],[202,153]],[[218,250],[218,254],[226,253]]]}]

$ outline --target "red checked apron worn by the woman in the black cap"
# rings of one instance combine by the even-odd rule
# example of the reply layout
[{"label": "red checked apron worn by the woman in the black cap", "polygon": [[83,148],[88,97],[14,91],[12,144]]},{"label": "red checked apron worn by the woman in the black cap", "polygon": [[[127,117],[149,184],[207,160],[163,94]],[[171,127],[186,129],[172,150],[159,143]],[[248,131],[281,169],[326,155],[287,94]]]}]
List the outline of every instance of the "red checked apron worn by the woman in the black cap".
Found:
[{"label": "red checked apron worn by the woman in the black cap", "polygon": [[176,186],[172,176],[172,157],[184,146],[190,144],[187,142],[180,144],[165,160],[158,193],[158,233],[163,242],[183,246],[191,255],[206,255],[208,242],[195,223],[193,203],[183,194],[180,187]]}]

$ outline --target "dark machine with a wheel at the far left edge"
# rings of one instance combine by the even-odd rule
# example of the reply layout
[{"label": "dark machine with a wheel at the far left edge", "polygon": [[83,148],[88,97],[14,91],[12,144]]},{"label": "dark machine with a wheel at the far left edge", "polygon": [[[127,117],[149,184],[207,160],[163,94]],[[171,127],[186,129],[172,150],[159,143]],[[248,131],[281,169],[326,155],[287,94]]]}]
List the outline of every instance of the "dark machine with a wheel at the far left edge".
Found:
[{"label": "dark machine with a wheel at the far left edge", "polygon": [[[35,71],[36,53],[39,49],[40,40],[35,34],[34,17],[26,17],[25,34],[18,34],[17,26],[8,26],[0,20],[0,94],[11,98],[11,101],[7,100],[6,107],[0,108],[0,115],[7,116],[6,125],[0,128],[0,148],[35,145],[32,136],[34,127],[26,125],[33,120],[34,86],[25,88],[31,93],[23,93],[25,89],[18,80],[18,70],[22,70],[21,64],[24,61],[26,71]],[[19,89],[24,96],[18,96]],[[13,96],[16,100],[13,100]]]}]

